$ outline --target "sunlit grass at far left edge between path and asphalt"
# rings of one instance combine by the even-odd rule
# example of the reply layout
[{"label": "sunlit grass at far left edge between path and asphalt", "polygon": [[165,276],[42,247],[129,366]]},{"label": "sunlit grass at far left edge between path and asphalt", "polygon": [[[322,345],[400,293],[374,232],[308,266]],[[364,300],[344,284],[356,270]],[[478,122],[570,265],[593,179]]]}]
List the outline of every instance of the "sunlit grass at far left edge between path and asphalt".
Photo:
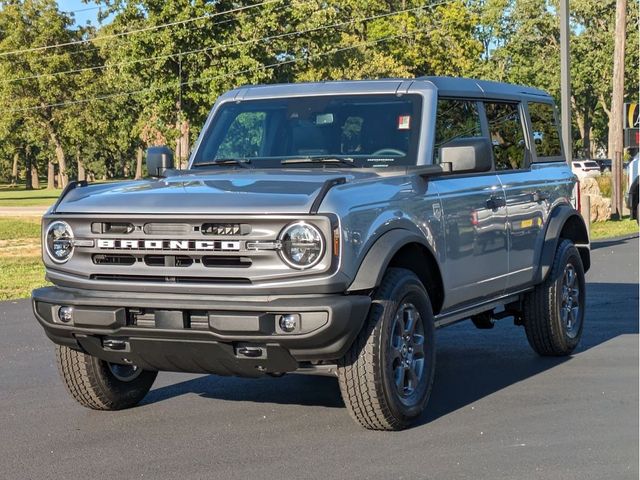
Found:
[{"label": "sunlit grass at far left edge between path and asphalt", "polygon": [[38,218],[0,218],[0,300],[27,298],[46,285]]}]

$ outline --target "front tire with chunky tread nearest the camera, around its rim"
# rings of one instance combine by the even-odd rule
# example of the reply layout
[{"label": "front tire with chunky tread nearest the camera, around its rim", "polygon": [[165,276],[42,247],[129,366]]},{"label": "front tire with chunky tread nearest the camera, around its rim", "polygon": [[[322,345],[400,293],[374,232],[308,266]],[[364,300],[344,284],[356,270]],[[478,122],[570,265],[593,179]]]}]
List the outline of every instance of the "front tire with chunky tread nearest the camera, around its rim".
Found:
[{"label": "front tire with chunky tread nearest the camera, around its rim", "polygon": [[[403,400],[392,378],[393,364],[398,359],[392,360],[391,343],[398,338],[393,337],[396,314],[407,304],[415,306],[419,313],[414,323],[422,323],[424,361],[414,395]],[[434,322],[429,296],[413,272],[390,268],[375,292],[362,331],[338,363],[340,391],[347,410],[369,430],[406,428],[420,416],[429,400],[434,370]]]}]

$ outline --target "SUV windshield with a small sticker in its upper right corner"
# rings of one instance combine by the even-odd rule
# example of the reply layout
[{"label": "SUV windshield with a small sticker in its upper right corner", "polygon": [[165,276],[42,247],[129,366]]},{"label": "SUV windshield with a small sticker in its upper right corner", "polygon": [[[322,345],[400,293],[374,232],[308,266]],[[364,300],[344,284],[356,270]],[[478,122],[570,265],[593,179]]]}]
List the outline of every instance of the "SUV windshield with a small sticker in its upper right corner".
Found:
[{"label": "SUV windshield with a small sticker in its upper right corner", "polygon": [[339,95],[223,104],[192,167],[416,164],[419,95]]}]

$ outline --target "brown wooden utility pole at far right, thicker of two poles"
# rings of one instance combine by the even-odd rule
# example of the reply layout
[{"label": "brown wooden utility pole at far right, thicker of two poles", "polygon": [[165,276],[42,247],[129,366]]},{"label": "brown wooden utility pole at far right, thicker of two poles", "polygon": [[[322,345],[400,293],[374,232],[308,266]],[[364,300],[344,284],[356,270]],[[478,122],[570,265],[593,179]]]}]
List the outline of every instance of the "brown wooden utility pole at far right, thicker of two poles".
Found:
[{"label": "brown wooden utility pole at far right, thicker of two poles", "polygon": [[613,93],[609,117],[609,156],[612,159],[611,216],[622,216],[622,150],[624,148],[624,48],[627,0],[616,1],[616,30],[613,52]]}]

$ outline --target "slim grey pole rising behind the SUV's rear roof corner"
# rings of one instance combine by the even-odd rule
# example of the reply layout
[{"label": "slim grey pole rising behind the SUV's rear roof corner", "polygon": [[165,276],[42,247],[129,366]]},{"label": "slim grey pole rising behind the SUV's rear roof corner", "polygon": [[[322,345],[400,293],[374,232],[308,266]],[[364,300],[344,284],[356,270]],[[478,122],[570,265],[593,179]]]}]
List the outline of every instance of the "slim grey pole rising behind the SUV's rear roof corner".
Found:
[{"label": "slim grey pole rising behind the SUV's rear roof corner", "polygon": [[573,160],[571,140],[571,71],[569,61],[569,0],[560,0],[560,107],[562,143],[567,162]]}]

